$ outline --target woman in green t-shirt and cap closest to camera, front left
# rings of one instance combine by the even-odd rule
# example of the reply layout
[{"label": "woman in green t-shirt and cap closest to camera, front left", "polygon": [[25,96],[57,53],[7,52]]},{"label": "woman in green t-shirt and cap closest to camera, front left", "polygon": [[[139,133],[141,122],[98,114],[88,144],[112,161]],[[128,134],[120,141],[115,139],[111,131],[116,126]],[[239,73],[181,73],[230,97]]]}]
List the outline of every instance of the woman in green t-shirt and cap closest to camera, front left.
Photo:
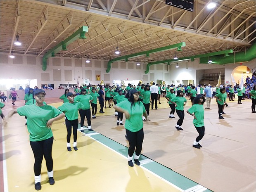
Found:
[{"label": "woman in green t-shirt and cap closest to camera, front left", "polygon": [[[35,189],[41,190],[41,167],[43,157],[45,157],[47,175],[50,185],[55,183],[53,179],[53,160],[52,160],[52,123],[62,119],[65,115],[55,107],[44,104],[45,91],[38,89],[34,92],[36,103],[24,105],[18,109],[13,109],[8,114],[8,119],[18,113],[20,116],[28,118],[28,133],[30,146],[32,148],[35,164]],[[24,175],[27,176],[27,175]]]}]

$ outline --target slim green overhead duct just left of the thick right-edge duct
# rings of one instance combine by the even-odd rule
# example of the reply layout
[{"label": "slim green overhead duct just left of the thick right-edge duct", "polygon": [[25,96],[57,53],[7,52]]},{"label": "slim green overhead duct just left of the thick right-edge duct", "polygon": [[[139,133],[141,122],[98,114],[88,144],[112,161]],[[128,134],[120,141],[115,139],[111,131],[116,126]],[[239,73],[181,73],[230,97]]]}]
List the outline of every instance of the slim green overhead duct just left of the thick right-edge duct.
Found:
[{"label": "slim green overhead duct just left of the thick right-edge duct", "polygon": [[207,63],[208,63],[208,58],[214,55],[223,55],[223,54],[229,54],[232,53],[233,50],[223,50],[223,51],[218,51],[218,52],[212,52],[212,53],[204,53],[201,55],[193,55],[193,56],[189,56],[189,57],[181,57],[178,59],[168,59],[168,60],[164,60],[164,61],[157,61],[157,62],[151,62],[147,64],[147,70],[145,71],[145,74],[147,74],[149,72],[149,67],[151,65],[155,65],[155,64],[162,64],[162,63],[167,63],[168,65],[170,64],[170,62],[177,62],[177,61],[183,61],[183,60],[187,60],[187,59],[191,59],[191,61],[194,61],[195,58],[200,58],[200,57],[207,57]]}]

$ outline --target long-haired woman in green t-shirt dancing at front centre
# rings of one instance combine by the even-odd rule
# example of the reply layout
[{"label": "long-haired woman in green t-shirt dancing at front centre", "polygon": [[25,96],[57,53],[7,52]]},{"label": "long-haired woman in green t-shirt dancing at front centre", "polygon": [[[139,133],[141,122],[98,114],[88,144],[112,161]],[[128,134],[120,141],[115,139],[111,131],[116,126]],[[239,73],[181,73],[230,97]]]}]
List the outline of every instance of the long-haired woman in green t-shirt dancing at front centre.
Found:
[{"label": "long-haired woman in green t-shirt dancing at front centre", "polygon": [[128,136],[128,165],[133,167],[133,153],[134,162],[140,165],[139,157],[142,150],[142,143],[144,138],[142,114],[147,117],[146,109],[141,101],[139,101],[139,93],[137,89],[132,89],[126,94],[128,100],[124,100],[114,106],[116,111],[124,113],[126,116],[126,135]]}]

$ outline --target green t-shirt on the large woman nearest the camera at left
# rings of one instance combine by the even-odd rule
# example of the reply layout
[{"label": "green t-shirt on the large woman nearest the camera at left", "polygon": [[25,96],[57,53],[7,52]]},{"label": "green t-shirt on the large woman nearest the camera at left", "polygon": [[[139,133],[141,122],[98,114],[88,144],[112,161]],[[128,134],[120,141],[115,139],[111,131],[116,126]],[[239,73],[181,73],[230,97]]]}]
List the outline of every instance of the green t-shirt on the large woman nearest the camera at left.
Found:
[{"label": "green t-shirt on the large woman nearest the camera at left", "polygon": [[17,109],[20,116],[26,116],[30,141],[42,141],[53,136],[52,129],[46,126],[49,119],[62,114],[62,111],[50,105],[38,107],[36,104],[24,105]]}]

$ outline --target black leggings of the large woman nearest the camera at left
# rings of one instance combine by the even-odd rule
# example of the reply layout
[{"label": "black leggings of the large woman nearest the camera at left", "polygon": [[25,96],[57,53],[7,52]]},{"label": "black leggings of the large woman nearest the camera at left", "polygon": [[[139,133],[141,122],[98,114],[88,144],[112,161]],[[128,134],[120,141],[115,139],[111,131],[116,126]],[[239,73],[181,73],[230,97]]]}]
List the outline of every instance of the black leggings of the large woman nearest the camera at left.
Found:
[{"label": "black leggings of the large woman nearest the camera at left", "polygon": [[35,164],[34,173],[35,176],[41,174],[43,156],[45,157],[47,171],[52,171],[53,160],[52,160],[52,143],[53,137],[43,140],[43,141],[30,141],[30,146],[32,148]]}]

